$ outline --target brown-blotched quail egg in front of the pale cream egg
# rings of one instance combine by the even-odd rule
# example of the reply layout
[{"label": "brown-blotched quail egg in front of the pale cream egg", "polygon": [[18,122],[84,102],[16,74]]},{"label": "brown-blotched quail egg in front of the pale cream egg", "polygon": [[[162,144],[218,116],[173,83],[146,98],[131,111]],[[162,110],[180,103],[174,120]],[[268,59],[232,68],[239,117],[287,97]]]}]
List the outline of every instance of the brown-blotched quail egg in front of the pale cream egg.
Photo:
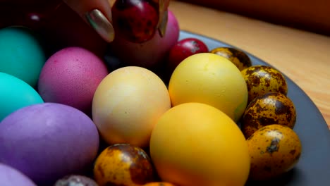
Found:
[{"label": "brown-blotched quail egg in front of the pale cream egg", "polygon": [[94,180],[103,185],[144,185],[154,181],[151,159],[130,144],[114,144],[104,149],[94,163]]}]

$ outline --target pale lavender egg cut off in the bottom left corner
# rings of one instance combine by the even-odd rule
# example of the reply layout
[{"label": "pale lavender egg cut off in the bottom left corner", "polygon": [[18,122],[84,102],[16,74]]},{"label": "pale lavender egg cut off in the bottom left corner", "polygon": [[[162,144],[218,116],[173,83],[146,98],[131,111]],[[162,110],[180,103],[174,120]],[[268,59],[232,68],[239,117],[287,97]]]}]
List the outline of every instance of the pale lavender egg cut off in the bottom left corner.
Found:
[{"label": "pale lavender egg cut off in the bottom left corner", "polygon": [[6,186],[37,186],[30,178],[20,171],[0,163],[0,185]]}]

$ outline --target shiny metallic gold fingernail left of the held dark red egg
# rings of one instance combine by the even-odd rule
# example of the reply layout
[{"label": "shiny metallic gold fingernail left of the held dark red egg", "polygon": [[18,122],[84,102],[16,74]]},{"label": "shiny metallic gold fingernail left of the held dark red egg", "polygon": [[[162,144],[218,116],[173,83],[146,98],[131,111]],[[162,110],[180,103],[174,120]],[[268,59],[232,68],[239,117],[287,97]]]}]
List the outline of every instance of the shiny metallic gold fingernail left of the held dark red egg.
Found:
[{"label": "shiny metallic gold fingernail left of the held dark red egg", "polygon": [[104,39],[106,42],[112,42],[114,40],[114,27],[104,14],[94,9],[86,13],[88,23],[94,28],[94,30]]}]

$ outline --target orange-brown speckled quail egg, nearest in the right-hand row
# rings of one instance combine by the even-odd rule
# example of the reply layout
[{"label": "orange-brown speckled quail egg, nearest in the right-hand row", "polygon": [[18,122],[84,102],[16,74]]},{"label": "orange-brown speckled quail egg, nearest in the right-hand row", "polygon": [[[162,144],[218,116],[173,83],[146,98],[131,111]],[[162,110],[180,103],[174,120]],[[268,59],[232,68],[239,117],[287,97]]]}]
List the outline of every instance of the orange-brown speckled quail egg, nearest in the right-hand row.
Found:
[{"label": "orange-brown speckled quail egg, nearest in the right-hand row", "polygon": [[247,139],[250,180],[268,180],[290,171],[302,151],[298,135],[284,125],[268,125]]}]

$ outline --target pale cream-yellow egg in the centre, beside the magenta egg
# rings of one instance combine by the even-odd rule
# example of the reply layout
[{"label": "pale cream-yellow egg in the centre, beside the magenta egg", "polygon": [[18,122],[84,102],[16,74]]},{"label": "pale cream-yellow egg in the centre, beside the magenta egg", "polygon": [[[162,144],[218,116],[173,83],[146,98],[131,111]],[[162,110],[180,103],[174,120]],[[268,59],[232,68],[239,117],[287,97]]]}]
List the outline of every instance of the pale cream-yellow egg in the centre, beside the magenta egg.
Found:
[{"label": "pale cream-yellow egg in the centre, beside the magenta egg", "polygon": [[171,108],[164,82],[146,68],[128,66],[104,77],[92,101],[92,118],[109,144],[147,147],[158,118]]}]

